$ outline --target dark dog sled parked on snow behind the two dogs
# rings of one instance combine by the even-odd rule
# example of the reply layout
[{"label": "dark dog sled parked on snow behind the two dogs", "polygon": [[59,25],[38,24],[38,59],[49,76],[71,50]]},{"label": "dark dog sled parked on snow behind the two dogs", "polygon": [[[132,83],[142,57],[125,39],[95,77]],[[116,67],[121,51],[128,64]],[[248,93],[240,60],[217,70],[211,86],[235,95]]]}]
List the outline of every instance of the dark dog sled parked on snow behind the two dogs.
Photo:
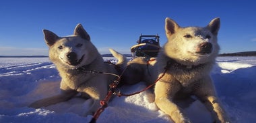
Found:
[{"label": "dark dog sled parked on snow behind the two dogs", "polygon": [[158,35],[140,35],[137,45],[131,47],[131,54],[133,58],[135,57],[156,57],[160,49]]}]

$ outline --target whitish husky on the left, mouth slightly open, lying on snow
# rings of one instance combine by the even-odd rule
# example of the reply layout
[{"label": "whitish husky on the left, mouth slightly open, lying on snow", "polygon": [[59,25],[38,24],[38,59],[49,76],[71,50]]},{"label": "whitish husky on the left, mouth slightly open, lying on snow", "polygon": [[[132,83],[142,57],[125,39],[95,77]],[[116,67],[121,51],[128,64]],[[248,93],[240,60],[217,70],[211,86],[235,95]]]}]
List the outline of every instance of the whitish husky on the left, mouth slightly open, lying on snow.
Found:
[{"label": "whitish husky on the left, mouth slightly open, lying on snow", "polygon": [[[66,37],[59,37],[46,29],[43,33],[44,40],[49,46],[49,58],[61,76],[61,94],[38,100],[30,104],[30,107],[40,108],[57,104],[71,99],[80,92],[85,98],[94,100],[85,115],[96,112],[100,107],[100,100],[104,99],[108,92],[109,83],[117,80],[116,76],[96,72],[118,75],[115,65],[104,63],[102,56],[90,41],[90,35],[81,24],[75,27],[73,35]],[[110,52],[119,59],[117,66],[126,64],[125,56],[113,49],[110,49]]]}]

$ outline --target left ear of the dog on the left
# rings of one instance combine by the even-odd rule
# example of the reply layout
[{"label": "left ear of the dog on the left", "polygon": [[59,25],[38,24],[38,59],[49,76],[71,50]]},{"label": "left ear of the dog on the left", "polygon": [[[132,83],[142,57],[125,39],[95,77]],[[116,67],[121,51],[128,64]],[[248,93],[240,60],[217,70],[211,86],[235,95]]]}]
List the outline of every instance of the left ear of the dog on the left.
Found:
[{"label": "left ear of the dog on the left", "polygon": [[53,45],[60,38],[58,35],[49,30],[42,29],[42,32],[44,33],[44,40],[49,46]]}]

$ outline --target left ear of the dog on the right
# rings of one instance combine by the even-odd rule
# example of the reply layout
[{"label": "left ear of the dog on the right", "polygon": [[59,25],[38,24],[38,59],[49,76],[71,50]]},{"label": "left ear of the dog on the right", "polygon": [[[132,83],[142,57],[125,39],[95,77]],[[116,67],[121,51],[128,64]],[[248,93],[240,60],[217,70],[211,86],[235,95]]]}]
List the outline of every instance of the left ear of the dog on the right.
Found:
[{"label": "left ear of the dog on the right", "polygon": [[175,31],[179,28],[179,25],[173,21],[172,19],[166,17],[165,19],[165,31],[166,36],[170,36],[175,33]]}]

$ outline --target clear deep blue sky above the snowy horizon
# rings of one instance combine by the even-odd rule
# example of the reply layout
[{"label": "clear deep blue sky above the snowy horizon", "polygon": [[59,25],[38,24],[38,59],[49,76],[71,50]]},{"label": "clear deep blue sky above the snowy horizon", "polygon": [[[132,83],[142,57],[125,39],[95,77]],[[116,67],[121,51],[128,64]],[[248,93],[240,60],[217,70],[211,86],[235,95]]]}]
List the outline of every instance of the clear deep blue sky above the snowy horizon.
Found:
[{"label": "clear deep blue sky above the snowy horizon", "polygon": [[73,34],[82,23],[100,53],[112,47],[130,53],[139,35],[160,35],[164,19],[205,26],[220,17],[220,53],[256,50],[253,0],[3,0],[0,3],[0,55],[48,55],[42,29]]}]

